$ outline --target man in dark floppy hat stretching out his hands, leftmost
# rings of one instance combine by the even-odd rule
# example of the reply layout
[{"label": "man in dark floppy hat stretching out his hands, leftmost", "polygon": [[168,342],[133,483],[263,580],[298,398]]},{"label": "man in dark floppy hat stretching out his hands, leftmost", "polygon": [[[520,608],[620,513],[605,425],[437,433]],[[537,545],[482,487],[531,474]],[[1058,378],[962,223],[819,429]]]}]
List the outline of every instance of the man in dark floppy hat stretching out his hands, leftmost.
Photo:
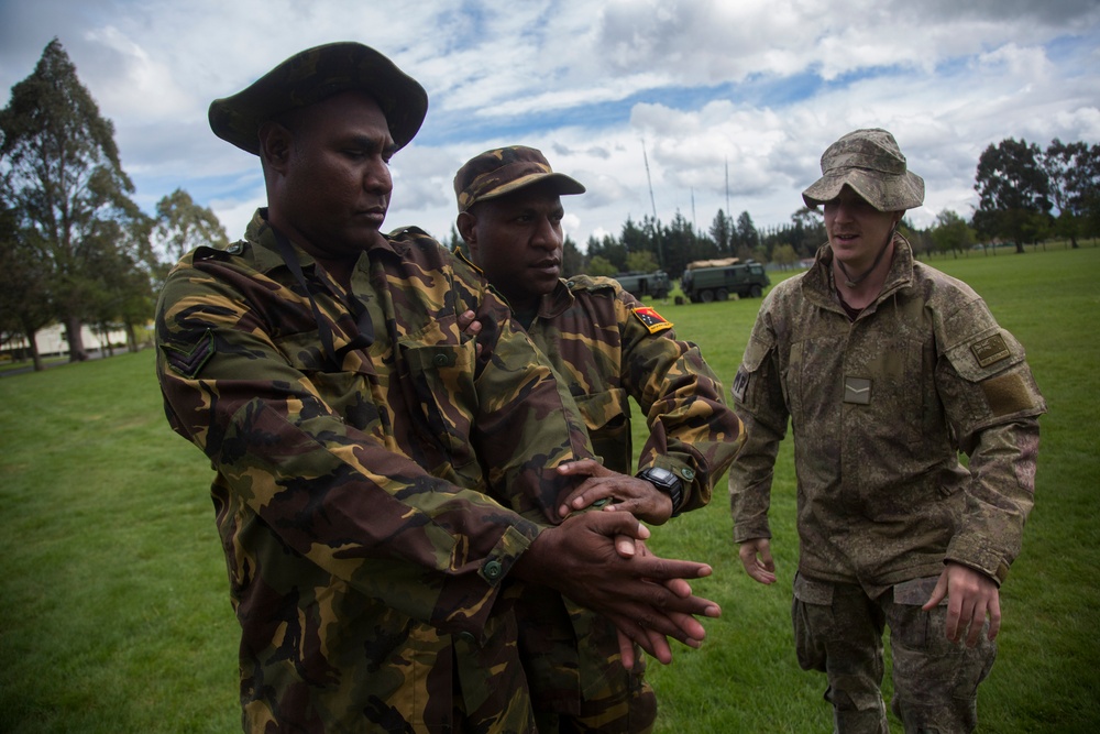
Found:
[{"label": "man in dark floppy hat stretching out his hands, leftmost", "polygon": [[270,206],[169,274],[157,376],[216,471],[249,732],[534,731],[518,580],[651,651],[717,614],[649,581],[704,565],[616,551],[648,535],[632,516],[562,521],[574,480],[556,468],[591,456],[572,398],[472,269],[415,228],[381,233],[388,161],[426,110],[356,43],[211,105],[215,133],[261,157]]}]

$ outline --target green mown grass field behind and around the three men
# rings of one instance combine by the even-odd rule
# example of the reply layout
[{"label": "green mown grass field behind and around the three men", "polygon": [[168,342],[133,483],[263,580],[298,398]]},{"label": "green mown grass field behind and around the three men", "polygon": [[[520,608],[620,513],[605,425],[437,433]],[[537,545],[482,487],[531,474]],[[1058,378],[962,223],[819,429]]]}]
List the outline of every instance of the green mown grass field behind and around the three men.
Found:
[{"label": "green mown grass field behind and around the three men", "polygon": [[[1100,249],[933,264],[1024,343],[1050,409],[979,731],[1100,731]],[[759,302],[657,306],[728,385]],[[152,352],[0,377],[0,732],[239,731],[210,470],[164,420]],[[741,571],[724,482],[710,507],[654,532],[661,554],[714,566],[695,588],[723,605],[702,649],[651,664],[658,732],[832,726],[824,679],[799,669],[791,639],[789,443],[772,502],[780,583]]]}]

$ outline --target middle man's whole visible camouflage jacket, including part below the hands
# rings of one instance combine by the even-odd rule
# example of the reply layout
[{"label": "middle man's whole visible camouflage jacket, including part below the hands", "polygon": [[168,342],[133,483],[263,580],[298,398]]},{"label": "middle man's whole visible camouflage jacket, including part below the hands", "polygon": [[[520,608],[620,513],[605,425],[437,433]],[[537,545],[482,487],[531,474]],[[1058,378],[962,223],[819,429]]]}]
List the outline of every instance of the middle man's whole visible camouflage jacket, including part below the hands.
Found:
[{"label": "middle man's whole visible camouflage jacket, including part below the hands", "polygon": [[[638,402],[650,427],[639,464],[681,476],[689,510],[710,502],[744,434],[698,348],[671,327],[617,282],[579,275],[543,298],[528,333],[576,401],[604,465],[625,474],[634,473],[629,398]],[[624,726],[652,724],[656,712],[638,698],[645,656],[636,650],[636,667],[624,670],[607,620],[538,588],[524,589],[516,610],[537,710],[575,716],[583,705]]]}]

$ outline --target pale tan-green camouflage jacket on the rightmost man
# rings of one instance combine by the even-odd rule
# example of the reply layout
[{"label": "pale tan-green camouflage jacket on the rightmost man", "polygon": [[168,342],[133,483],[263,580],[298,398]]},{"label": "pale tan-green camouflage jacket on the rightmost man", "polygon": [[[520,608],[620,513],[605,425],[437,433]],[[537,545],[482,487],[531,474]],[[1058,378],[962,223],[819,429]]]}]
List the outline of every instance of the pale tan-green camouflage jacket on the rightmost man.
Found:
[{"label": "pale tan-green camouflage jacket on the rightmost man", "polygon": [[1023,348],[901,237],[882,293],[850,321],[832,256],[824,245],[813,269],[772,289],[745,349],[733,385],[749,436],[729,471],[734,539],[770,537],[790,417],[802,573],[873,596],[954,560],[1000,583],[1032,508],[1046,409]]}]

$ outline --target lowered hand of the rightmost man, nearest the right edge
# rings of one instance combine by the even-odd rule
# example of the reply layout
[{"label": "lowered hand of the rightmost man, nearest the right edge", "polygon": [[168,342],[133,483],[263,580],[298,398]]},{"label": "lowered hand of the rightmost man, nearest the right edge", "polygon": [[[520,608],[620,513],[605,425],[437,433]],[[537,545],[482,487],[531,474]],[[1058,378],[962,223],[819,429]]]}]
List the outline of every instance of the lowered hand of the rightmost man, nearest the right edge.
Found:
[{"label": "lowered hand of the rightmost man, nearest the right edge", "polygon": [[989,616],[987,636],[990,640],[997,639],[997,633],[1001,629],[1001,592],[996,581],[969,566],[948,561],[939,574],[932,596],[922,609],[931,611],[945,596],[947,625],[944,634],[947,635],[947,639],[957,643],[963,639],[965,633],[967,647],[974,647],[978,644],[978,636],[981,634],[982,625],[986,624],[987,615]]}]

